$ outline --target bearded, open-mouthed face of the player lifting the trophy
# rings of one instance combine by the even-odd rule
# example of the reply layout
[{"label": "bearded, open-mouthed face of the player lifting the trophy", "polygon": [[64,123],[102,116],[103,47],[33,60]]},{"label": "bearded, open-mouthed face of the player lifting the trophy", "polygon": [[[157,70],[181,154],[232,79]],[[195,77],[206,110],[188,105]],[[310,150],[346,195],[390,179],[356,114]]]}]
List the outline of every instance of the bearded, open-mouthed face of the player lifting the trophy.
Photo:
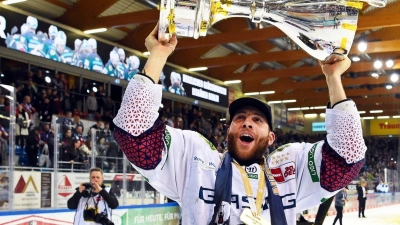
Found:
[{"label": "bearded, open-mouthed face of the player lifting the trophy", "polygon": [[228,151],[238,160],[261,159],[275,140],[265,115],[255,107],[238,110],[228,130]]}]

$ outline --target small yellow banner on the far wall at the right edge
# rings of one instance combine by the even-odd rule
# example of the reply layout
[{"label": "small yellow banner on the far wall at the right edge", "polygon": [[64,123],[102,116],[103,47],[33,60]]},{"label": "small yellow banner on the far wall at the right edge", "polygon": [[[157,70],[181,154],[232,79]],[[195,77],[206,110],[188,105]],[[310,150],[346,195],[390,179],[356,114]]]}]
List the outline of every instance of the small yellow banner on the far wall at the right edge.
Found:
[{"label": "small yellow banner on the far wall at the right edge", "polygon": [[374,119],[369,129],[370,135],[399,135],[400,119]]}]

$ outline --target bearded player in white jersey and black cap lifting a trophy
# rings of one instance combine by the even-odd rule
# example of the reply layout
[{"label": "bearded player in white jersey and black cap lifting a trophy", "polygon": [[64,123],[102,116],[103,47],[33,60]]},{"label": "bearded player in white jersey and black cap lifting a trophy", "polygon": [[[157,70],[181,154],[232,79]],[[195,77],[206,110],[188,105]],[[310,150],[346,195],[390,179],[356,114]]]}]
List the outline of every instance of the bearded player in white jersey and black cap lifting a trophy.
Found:
[{"label": "bearded player in white jersey and black cap lifting a trophy", "polygon": [[[146,74],[130,81],[114,119],[114,138],[135,169],[182,207],[182,224],[295,225],[296,212],[320,204],[358,175],[366,146],[357,107],[341,83],[347,57],[332,55],[320,63],[330,100],[324,140],[287,144],[265,159],[275,139],[271,109],[239,98],[229,106],[228,151],[221,155],[197,132],[157,120],[157,83],[177,44],[176,35],[158,41],[157,31],[158,26],[146,38]],[[339,60],[329,64],[333,57]]]}]

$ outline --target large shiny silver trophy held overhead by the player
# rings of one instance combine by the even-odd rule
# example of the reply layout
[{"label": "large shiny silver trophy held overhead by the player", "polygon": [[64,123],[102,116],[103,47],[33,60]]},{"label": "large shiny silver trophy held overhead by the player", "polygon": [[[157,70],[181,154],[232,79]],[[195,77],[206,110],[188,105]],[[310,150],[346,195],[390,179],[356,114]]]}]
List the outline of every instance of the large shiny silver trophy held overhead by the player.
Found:
[{"label": "large shiny silver trophy held overhead by the player", "polygon": [[197,39],[218,21],[245,17],[276,26],[308,54],[326,60],[332,53],[350,51],[363,2],[384,7],[386,1],[161,0],[158,34],[167,39],[172,33]]}]

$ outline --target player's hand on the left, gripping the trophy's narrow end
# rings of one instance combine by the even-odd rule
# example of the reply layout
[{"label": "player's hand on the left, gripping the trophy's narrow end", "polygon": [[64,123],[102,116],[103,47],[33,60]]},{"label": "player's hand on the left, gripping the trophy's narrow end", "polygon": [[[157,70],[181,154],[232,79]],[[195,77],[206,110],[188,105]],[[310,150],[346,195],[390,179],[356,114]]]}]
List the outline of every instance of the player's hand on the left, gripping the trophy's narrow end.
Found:
[{"label": "player's hand on the left, gripping the trophy's narrow end", "polygon": [[175,50],[178,40],[176,38],[176,34],[172,35],[169,42],[164,37],[158,40],[158,26],[159,25],[157,23],[153,31],[149,34],[149,36],[147,36],[145,45],[147,50],[150,52],[150,55],[157,54],[168,57]]}]

